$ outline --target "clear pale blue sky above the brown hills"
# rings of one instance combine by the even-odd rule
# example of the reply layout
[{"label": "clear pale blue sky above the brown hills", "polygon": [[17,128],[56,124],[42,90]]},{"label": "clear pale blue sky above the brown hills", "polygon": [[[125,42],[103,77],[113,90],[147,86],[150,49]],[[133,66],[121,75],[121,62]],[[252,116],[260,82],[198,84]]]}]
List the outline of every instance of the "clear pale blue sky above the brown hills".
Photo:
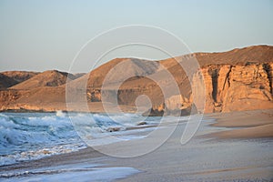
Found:
[{"label": "clear pale blue sky above the brown hills", "polygon": [[[0,71],[69,71],[90,39],[124,25],[165,29],[190,52],[273,45],[272,17],[272,0],[0,0]],[[137,57],[130,51],[119,50],[112,58]],[[143,58],[167,56],[151,51]],[[93,62],[90,57],[88,66],[81,64],[75,71],[90,71]]]}]

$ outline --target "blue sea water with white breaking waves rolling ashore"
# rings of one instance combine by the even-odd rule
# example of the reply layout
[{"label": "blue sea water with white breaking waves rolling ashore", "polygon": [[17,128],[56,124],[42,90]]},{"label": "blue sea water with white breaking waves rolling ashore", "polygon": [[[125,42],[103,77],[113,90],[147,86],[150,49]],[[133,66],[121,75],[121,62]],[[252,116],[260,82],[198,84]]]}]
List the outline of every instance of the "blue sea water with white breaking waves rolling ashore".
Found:
[{"label": "blue sea water with white breaking waves rolling ashore", "polygon": [[106,137],[109,128],[117,128],[119,131],[110,135],[123,140],[142,138],[136,134],[140,130],[126,131],[126,127],[145,119],[147,125],[157,125],[158,117],[134,114],[1,113],[0,166],[86,148],[80,136],[94,140],[96,145],[116,142]]}]

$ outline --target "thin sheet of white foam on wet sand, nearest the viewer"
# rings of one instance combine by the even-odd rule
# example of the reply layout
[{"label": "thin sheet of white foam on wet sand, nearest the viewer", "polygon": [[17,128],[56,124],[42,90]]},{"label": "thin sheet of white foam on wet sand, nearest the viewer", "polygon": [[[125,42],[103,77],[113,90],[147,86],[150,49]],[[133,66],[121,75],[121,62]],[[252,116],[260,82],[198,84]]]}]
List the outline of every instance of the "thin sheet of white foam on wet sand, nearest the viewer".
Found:
[{"label": "thin sheet of white foam on wet sand, nearest the viewer", "polygon": [[101,167],[94,164],[74,164],[16,170],[1,174],[1,181],[113,181],[140,172],[133,167]]}]

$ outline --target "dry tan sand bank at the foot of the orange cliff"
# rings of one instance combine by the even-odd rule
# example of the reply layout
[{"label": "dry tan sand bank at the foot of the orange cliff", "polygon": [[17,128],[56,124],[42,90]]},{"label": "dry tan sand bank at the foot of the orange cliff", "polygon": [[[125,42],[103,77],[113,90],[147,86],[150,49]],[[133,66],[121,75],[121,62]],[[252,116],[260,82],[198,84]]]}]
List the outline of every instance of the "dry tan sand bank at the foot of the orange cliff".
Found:
[{"label": "dry tan sand bank at the foot of the orange cliff", "polygon": [[211,114],[217,119],[211,126],[230,127],[232,130],[221,131],[208,136],[218,138],[260,138],[273,137],[273,111],[256,110],[225,114]]}]

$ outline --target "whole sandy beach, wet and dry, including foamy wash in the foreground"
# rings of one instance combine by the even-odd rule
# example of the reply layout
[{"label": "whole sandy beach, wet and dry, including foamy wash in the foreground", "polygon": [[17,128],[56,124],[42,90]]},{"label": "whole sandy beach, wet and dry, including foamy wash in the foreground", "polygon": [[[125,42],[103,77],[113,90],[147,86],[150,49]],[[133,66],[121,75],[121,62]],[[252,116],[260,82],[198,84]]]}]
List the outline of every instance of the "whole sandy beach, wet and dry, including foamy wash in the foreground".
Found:
[{"label": "whole sandy beach, wet and dry, including foamy wash in the foreground", "polygon": [[[179,122],[163,145],[143,156],[110,157],[86,147],[2,166],[0,177],[1,181],[272,181],[272,113],[207,114],[185,145],[180,139],[187,123]],[[123,142],[107,147],[122,150]]]}]

